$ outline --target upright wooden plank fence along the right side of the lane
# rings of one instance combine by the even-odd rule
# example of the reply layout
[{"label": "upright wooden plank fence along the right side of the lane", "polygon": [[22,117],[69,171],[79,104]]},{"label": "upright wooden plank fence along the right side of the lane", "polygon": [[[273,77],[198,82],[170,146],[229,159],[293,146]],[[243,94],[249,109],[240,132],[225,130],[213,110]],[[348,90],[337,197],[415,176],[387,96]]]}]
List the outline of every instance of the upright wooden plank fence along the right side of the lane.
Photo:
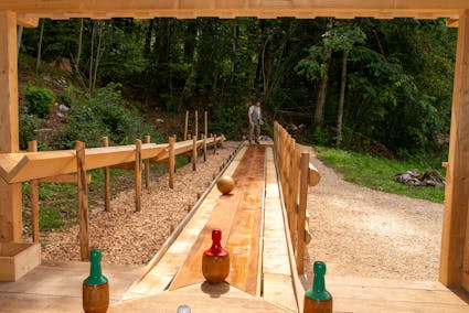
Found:
[{"label": "upright wooden plank fence along the right side of the lane", "polygon": [[283,128],[274,123],[275,155],[279,170],[284,204],[295,252],[297,271],[305,271],[305,247],[311,240],[308,215],[308,186],[319,183],[321,176],[309,162],[309,153]]}]

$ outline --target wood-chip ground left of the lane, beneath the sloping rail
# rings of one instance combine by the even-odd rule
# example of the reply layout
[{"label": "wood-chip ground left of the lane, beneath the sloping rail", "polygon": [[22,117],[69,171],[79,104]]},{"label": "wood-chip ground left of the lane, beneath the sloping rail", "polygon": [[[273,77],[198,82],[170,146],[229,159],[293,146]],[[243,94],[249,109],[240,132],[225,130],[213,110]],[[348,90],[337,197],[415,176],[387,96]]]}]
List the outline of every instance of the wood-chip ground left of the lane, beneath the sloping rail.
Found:
[{"label": "wood-chip ground left of the lane, beneath the sloping rail", "polygon": [[[198,159],[195,172],[192,164],[178,169],[173,190],[168,186],[168,174],[151,177],[148,191],[143,184],[140,212],[135,212],[134,185],[114,196],[110,212],[104,212],[104,204],[92,207],[90,247],[102,249],[107,263],[148,263],[238,144],[226,141],[216,154],[209,150],[206,162]],[[79,260],[77,225],[41,236],[47,242],[42,248],[43,259]]]}]

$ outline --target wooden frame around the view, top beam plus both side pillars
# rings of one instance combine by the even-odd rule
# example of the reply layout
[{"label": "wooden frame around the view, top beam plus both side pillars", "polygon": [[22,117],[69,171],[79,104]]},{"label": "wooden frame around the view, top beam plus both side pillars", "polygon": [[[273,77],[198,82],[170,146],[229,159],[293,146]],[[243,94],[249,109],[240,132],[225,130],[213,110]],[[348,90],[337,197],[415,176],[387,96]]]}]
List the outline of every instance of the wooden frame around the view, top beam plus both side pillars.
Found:
[{"label": "wooden frame around the view, top beam plus both side pillars", "polygon": [[[0,2],[0,153],[19,152],[17,24],[39,18],[335,17],[447,18],[459,26],[440,281],[469,290],[469,1],[467,0],[2,0]],[[145,144],[142,144],[145,147]],[[145,148],[142,148],[145,153]],[[135,155],[134,155],[135,156]],[[7,161],[8,162],[8,161]],[[87,161],[87,164],[89,162]],[[63,164],[70,166],[70,164]],[[30,177],[33,179],[33,177]],[[20,180],[0,179],[0,241],[21,241]]]}]

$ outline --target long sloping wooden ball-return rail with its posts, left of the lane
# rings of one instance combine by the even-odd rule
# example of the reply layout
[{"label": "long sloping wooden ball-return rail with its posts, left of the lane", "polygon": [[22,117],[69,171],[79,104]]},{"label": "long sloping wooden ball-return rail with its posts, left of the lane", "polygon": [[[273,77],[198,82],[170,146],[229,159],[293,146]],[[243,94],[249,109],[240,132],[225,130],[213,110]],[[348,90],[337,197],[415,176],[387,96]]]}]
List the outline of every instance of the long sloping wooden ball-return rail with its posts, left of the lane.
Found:
[{"label": "long sloping wooden ball-return rail with its posts, left of the lane", "polygon": [[29,142],[29,152],[0,153],[0,180],[7,183],[31,183],[31,215],[33,241],[39,242],[39,184],[40,183],[76,183],[78,188],[78,216],[79,216],[79,246],[82,260],[88,259],[88,195],[87,184],[90,177],[87,170],[104,168],[105,171],[105,211],[109,211],[110,180],[109,168],[135,171],[135,205],[136,212],[141,207],[141,174],[145,171],[146,186],[148,187],[149,164],[169,163],[169,185],[173,187],[175,172],[175,156],[191,155],[192,168],[195,171],[199,150],[203,150],[204,159],[206,148],[223,144],[225,137],[211,136],[198,140],[175,142],[175,137],[170,137],[168,143],[150,143],[150,138],[140,139],[136,144],[108,147],[107,138],[103,138],[102,148],[85,149],[81,141],[75,142],[75,150],[41,151],[38,152],[35,141]]}]

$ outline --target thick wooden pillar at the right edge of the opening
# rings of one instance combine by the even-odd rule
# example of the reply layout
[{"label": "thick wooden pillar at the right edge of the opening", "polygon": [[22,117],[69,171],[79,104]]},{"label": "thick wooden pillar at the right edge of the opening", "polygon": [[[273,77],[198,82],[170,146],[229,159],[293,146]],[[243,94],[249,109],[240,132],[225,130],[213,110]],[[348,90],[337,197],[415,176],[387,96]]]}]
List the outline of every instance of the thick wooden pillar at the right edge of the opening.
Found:
[{"label": "thick wooden pillar at the right edge of the opening", "polygon": [[469,290],[469,10],[459,18],[439,280]]}]

